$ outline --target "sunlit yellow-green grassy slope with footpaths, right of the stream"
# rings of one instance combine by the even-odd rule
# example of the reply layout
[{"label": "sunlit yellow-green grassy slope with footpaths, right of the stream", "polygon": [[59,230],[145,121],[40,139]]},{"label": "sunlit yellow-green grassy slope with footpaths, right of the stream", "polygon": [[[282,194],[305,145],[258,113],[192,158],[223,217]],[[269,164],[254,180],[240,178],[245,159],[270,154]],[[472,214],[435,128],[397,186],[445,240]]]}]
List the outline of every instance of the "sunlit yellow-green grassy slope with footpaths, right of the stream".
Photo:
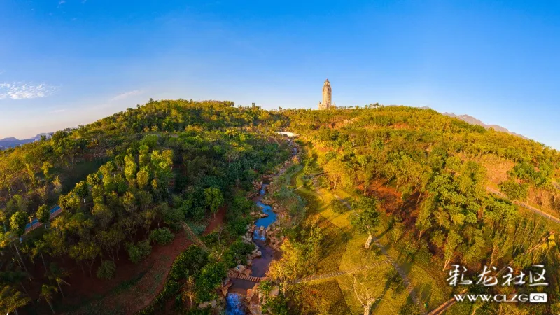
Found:
[{"label": "sunlit yellow-green grassy slope with footpaths, right of the stream", "polygon": [[[302,175],[302,172],[300,172],[294,177],[293,185],[295,187],[302,185]],[[370,250],[363,248],[367,236],[353,231],[348,219],[349,213],[339,215],[332,211],[329,203],[330,200],[335,198],[333,193],[325,189],[313,190],[309,188],[300,188],[297,193],[309,202],[308,220],[318,220],[318,224],[321,225],[327,235],[325,244],[323,244],[325,246],[323,256],[318,264],[318,274],[353,269],[384,259],[380,251],[375,248]],[[337,190],[335,193],[348,201],[356,197],[353,193],[344,190]],[[388,252],[393,258],[400,257],[398,248],[404,246],[404,244],[388,246],[386,238],[380,237],[380,240],[388,248]],[[449,292],[444,291],[447,288],[447,283],[444,283],[444,278],[440,276],[441,272],[437,270],[437,267],[430,270],[403,259],[398,259],[398,261],[405,270],[409,271],[409,278],[414,289],[419,293],[421,300],[428,303],[428,309],[433,309],[447,300]],[[372,290],[374,296],[379,297],[373,314],[397,314],[400,307],[410,302],[406,290],[397,294],[392,288],[389,288],[385,274],[390,269],[392,267],[387,264],[374,267],[366,272],[370,281],[370,290]],[[441,280],[438,281],[437,279]],[[323,298],[329,304],[330,314],[363,313],[353,293],[353,276],[340,276],[335,281],[313,281],[307,283],[306,286],[313,287],[319,283],[324,287],[320,298]],[[341,307],[338,292],[342,292],[342,295],[344,295],[346,308]]]}]

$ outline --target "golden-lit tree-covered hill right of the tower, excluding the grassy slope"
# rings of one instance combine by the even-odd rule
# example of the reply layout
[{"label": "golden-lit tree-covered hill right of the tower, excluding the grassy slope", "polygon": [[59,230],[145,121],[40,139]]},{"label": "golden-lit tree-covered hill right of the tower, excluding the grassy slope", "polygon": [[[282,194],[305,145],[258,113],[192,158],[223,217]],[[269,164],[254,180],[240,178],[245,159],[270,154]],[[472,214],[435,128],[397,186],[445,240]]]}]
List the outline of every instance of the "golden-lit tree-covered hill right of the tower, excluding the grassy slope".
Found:
[{"label": "golden-lit tree-covered hill right of the tower, excluding the grassy slope", "polygon": [[[381,235],[394,233],[414,255],[428,254],[426,268],[447,272],[456,263],[469,270],[519,270],[541,263],[553,270],[547,274],[549,293],[557,296],[560,225],[548,215],[560,218],[558,151],[430,109],[283,114],[290,131],[309,144],[304,172],[319,167],[327,175],[321,187],[330,191],[385,198],[377,209],[386,215]],[[392,203],[386,193],[391,191],[397,199]]]}]

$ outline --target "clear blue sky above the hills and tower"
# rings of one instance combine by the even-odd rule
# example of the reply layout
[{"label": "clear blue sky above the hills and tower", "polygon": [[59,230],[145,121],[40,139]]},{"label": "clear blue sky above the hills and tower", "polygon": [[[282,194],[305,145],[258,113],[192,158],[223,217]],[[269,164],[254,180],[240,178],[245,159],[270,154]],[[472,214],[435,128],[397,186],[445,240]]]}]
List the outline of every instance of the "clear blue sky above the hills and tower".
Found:
[{"label": "clear blue sky above the hills and tower", "polygon": [[0,138],[149,98],[467,113],[560,148],[556,1],[0,1]]}]

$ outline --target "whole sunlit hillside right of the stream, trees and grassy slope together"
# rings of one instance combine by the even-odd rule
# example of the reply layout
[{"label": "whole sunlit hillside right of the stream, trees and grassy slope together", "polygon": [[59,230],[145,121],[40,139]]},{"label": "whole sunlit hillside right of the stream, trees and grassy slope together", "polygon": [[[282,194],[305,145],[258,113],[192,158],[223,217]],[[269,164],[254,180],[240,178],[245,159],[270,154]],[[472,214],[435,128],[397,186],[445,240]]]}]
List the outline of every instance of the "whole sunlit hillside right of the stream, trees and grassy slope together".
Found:
[{"label": "whole sunlit hillside right of the stream, trees and grassy slope together", "polygon": [[[293,186],[303,187],[299,194],[309,204],[320,204],[311,207],[314,216],[308,224],[326,221],[321,223],[324,233],[337,239],[325,243],[316,264],[304,265],[300,272],[318,269],[328,274],[373,263],[379,258],[363,259],[370,255],[363,248],[374,246],[402,279],[393,278],[390,269],[374,267],[362,275],[310,283],[303,288],[304,304],[333,314],[423,314],[449,299],[453,287],[445,279],[452,265],[468,270],[465,279],[476,279],[484,265],[510,266],[517,274],[537,263],[547,270],[559,267],[559,225],[518,206],[533,204],[559,217],[559,190],[552,184],[559,174],[557,151],[429,109],[387,106],[283,114],[290,118],[289,130],[302,135],[307,148],[301,184]],[[326,177],[311,180],[321,172]],[[293,248],[304,246],[308,233],[302,232],[296,238],[302,245]],[[295,249],[286,251],[290,257],[297,254]],[[281,260],[275,270],[288,266],[288,260]],[[551,306],[515,304],[507,314],[553,314],[560,306],[555,298],[560,276],[555,271],[547,275],[552,313]],[[356,281],[370,289],[365,292]],[[516,290],[531,292],[526,286]],[[295,288],[291,294],[300,297]],[[380,304],[368,306],[369,298]],[[496,314],[502,309],[500,304],[450,305],[449,314]]]}]

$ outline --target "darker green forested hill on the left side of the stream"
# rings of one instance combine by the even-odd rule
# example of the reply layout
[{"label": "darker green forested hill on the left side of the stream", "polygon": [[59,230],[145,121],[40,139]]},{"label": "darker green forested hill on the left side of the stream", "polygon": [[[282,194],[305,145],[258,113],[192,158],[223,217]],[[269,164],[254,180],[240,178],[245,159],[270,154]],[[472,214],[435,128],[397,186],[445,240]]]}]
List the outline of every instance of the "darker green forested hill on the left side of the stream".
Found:
[{"label": "darker green forested hill on the left side of the stream", "polygon": [[224,256],[197,254],[193,261],[214,272],[214,280],[196,278],[197,301],[211,300],[225,270],[253,251],[235,241],[251,221],[254,204],[246,195],[258,176],[290,156],[286,141],[272,139],[285,122],[279,113],[233,102],[150,101],[1,151],[0,311],[27,304],[40,314],[55,311],[64,294],[79,297],[80,283],[118,277],[129,268],[123,263],[146,259],[182,223],[204,230],[227,209]]}]

